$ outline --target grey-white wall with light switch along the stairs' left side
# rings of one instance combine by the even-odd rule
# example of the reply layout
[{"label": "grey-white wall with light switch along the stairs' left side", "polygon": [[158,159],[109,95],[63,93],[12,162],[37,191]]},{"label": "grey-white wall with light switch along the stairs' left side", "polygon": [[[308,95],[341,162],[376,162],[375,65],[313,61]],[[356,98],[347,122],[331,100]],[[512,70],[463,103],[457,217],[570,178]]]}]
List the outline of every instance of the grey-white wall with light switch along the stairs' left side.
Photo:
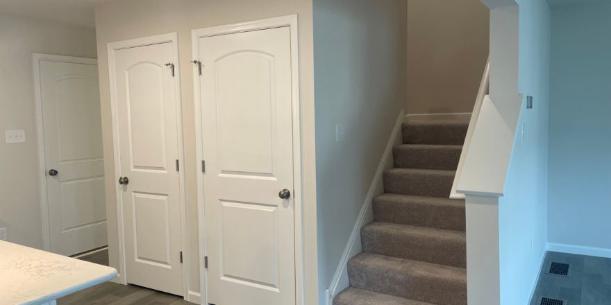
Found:
[{"label": "grey-white wall with light switch along the stairs' left side", "polygon": [[406,22],[404,0],[314,1],[319,304],[405,107]]}]

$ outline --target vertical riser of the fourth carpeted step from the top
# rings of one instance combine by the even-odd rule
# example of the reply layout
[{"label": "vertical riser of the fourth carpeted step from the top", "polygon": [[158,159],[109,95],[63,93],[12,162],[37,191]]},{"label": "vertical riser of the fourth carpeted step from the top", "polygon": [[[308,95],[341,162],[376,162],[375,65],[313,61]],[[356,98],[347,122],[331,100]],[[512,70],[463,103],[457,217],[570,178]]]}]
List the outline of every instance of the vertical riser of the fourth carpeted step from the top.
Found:
[{"label": "vertical riser of the fourth carpeted step from the top", "polygon": [[416,225],[466,231],[463,207],[437,206],[418,202],[396,202],[374,198],[374,220],[384,223]]}]

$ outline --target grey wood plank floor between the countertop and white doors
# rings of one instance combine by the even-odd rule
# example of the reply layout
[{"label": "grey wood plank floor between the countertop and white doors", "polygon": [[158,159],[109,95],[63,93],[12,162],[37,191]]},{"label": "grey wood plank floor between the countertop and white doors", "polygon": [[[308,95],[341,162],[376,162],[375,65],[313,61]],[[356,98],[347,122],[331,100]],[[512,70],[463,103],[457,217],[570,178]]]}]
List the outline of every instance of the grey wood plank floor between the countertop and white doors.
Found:
[{"label": "grey wood plank floor between the countertop and white doors", "polygon": [[[83,256],[80,259],[108,265],[108,250]],[[135,286],[106,283],[81,290],[58,299],[58,305],[191,305],[183,297]]]}]

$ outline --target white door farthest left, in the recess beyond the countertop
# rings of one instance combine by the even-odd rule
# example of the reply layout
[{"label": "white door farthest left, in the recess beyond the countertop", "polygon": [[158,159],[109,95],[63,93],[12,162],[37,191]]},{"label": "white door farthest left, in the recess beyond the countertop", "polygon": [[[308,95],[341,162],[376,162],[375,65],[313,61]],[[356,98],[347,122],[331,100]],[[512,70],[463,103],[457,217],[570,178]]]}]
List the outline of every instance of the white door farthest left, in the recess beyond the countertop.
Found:
[{"label": "white door farthest left, in the recess beyond the countertop", "polygon": [[37,60],[51,252],[108,245],[98,67]]}]

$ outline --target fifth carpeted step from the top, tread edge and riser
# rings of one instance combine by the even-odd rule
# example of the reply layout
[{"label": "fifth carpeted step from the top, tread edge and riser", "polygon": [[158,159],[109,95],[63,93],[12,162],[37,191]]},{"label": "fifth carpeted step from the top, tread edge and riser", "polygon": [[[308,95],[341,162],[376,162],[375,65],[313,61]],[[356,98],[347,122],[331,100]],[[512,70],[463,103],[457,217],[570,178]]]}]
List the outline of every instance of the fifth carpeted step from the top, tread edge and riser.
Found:
[{"label": "fifth carpeted step from the top, tread edge and riser", "polygon": [[374,221],[361,228],[360,238],[366,253],[467,268],[464,232]]}]

